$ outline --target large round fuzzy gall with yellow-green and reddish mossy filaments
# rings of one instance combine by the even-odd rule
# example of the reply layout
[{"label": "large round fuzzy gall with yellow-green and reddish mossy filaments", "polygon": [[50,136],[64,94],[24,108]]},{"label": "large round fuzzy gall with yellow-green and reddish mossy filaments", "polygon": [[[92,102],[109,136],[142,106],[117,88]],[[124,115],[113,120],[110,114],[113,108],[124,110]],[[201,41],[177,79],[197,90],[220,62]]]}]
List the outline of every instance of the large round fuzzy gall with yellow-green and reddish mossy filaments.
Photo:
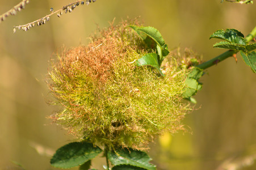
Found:
[{"label": "large round fuzzy gall with yellow-green and reddish mossy filaments", "polygon": [[62,110],[51,118],[76,137],[101,146],[145,148],[164,131],[183,129],[187,70],[167,56],[161,76],[135,61],[153,53],[128,25],[102,29],[87,46],[57,55],[48,87]]}]

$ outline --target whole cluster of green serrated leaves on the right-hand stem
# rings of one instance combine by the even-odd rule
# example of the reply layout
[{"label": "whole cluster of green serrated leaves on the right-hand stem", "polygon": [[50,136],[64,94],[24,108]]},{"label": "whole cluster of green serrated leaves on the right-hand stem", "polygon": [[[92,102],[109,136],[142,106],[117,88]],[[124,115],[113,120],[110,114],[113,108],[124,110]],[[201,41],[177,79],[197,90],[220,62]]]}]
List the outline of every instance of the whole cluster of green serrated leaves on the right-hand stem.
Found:
[{"label": "whole cluster of green serrated leaves on the right-hand stem", "polygon": [[244,38],[244,35],[236,29],[226,29],[226,31],[218,30],[210,36],[210,39],[212,38],[225,40],[213,45],[215,48],[240,51],[246,65],[250,66],[255,73],[256,56],[255,52],[251,51],[256,49],[256,43],[249,44]]}]

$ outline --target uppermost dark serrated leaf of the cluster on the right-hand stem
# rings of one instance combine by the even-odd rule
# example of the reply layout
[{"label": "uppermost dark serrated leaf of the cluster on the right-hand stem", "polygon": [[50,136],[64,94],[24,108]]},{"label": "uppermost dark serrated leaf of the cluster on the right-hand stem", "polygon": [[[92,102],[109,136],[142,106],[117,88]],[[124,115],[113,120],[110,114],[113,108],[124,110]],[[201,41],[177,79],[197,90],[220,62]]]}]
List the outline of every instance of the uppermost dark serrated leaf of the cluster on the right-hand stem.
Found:
[{"label": "uppermost dark serrated leaf of the cluster on the right-hand stem", "polygon": [[247,41],[244,39],[244,35],[236,29],[223,29],[214,32],[210,39],[216,38],[221,40],[226,40],[234,44],[247,45]]}]

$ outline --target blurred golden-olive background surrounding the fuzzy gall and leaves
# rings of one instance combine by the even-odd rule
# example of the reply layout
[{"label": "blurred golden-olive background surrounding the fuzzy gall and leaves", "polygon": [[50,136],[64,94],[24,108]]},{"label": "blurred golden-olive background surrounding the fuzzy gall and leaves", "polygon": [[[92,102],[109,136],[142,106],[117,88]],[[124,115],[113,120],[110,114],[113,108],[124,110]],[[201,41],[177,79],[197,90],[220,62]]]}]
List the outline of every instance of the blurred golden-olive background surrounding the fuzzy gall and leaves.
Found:
[{"label": "blurred golden-olive background surrounding the fuzzy gall and leaves", "polygon": [[[1,0],[0,14],[19,3]],[[223,53],[213,49],[209,35],[236,28],[245,35],[256,25],[256,4],[220,3],[220,0],[97,0],[78,6],[71,14],[52,16],[47,24],[28,32],[12,33],[67,5],[67,0],[31,0],[25,10],[0,24],[0,169],[54,169],[49,155],[73,137],[46,117],[57,108],[45,84],[48,61],[63,45],[87,44],[96,25],[114,18],[141,16],[156,27],[169,48],[181,46],[202,54],[204,60]],[[191,133],[166,134],[149,150],[158,169],[256,169],[256,76],[238,55],[207,70],[203,90],[195,96],[196,111],[184,120]],[[103,169],[97,158],[94,168]],[[16,163],[16,164],[15,164]],[[104,163],[104,162],[103,162]],[[74,168],[77,169],[77,168]]]}]

